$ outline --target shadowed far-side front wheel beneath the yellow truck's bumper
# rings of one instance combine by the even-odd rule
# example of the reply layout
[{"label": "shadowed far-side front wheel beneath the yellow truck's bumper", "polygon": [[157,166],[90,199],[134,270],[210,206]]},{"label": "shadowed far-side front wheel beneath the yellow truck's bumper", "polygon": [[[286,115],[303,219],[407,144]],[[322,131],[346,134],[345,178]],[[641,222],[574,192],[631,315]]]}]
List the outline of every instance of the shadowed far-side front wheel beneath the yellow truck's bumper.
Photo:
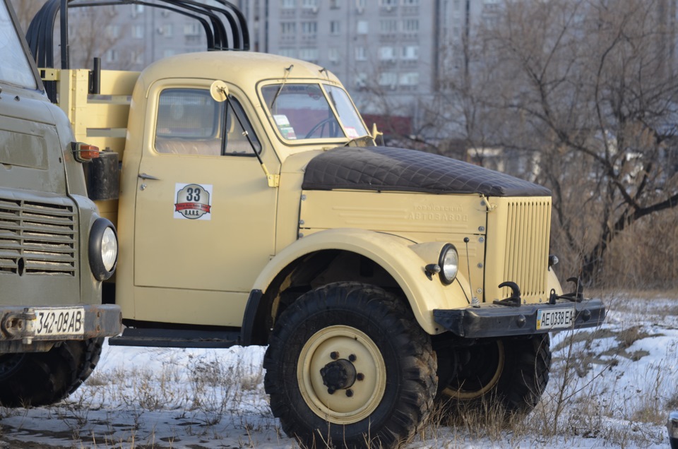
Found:
[{"label": "shadowed far-side front wheel beneath the yellow truck's bumper", "polygon": [[[506,412],[530,412],[549,381],[549,335],[493,340],[456,348],[452,357],[460,369],[448,381],[441,379],[439,400],[451,405],[494,407]],[[441,361],[441,364],[443,361]]]}]

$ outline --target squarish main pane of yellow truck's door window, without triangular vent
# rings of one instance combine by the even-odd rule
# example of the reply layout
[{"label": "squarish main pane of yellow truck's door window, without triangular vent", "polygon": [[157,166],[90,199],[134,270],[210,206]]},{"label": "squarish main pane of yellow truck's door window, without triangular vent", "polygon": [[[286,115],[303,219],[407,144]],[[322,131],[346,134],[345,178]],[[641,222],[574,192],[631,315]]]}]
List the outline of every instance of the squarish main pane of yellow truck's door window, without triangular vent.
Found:
[{"label": "squarish main pane of yellow truck's door window, without triangular vent", "polygon": [[224,105],[215,102],[209,90],[163,90],[157,104],[155,150],[178,155],[221,155],[223,109]]}]

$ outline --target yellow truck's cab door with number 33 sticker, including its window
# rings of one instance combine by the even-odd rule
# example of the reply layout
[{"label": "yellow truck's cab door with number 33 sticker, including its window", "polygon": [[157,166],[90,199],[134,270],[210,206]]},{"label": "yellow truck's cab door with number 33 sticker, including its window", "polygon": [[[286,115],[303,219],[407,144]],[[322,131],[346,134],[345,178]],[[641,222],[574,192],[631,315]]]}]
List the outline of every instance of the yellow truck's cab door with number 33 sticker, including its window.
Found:
[{"label": "yellow truck's cab door with number 33 sticker, including its window", "polygon": [[269,169],[280,164],[237,95],[215,102],[208,81],[161,83],[148,101],[156,107],[138,171],[135,318],[239,326],[275,247],[278,189],[254,151]]}]

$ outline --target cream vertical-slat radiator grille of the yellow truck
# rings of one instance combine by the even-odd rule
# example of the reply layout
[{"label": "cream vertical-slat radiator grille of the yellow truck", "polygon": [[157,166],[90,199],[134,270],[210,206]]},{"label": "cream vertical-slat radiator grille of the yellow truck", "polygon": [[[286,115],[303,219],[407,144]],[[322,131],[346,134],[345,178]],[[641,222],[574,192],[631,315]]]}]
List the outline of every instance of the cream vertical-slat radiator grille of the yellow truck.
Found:
[{"label": "cream vertical-slat radiator grille of the yellow truck", "polygon": [[546,296],[550,227],[550,198],[509,203],[504,280],[516,282],[523,297]]}]

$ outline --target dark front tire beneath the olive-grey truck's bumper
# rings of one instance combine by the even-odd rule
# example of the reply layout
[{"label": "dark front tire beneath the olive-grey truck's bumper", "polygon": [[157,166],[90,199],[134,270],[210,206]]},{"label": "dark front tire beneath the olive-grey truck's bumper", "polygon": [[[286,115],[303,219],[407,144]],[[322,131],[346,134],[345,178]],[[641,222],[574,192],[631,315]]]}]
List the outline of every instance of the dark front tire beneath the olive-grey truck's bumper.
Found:
[{"label": "dark front tire beneath the olive-grey truck's bumper", "polygon": [[0,404],[28,407],[64,399],[94,371],[103,338],[66,340],[48,352],[0,355]]}]

